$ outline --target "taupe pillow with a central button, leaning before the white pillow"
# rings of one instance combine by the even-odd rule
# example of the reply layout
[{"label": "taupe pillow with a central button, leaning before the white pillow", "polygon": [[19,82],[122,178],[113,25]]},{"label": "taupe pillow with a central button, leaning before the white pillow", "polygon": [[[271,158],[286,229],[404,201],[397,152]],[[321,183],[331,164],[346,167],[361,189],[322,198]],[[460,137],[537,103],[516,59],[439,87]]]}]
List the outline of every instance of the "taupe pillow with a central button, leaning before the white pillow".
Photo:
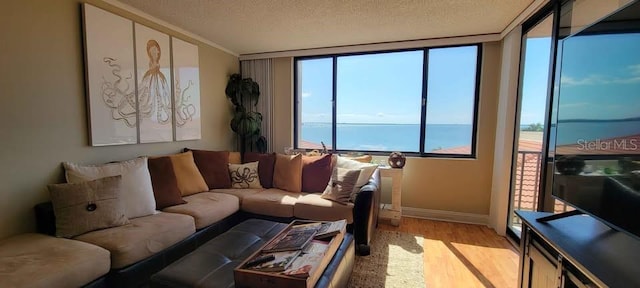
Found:
[{"label": "taupe pillow with a central button, leaning before the white pillow", "polygon": [[122,176],[49,184],[56,236],[71,238],[98,229],[129,223],[120,199]]}]

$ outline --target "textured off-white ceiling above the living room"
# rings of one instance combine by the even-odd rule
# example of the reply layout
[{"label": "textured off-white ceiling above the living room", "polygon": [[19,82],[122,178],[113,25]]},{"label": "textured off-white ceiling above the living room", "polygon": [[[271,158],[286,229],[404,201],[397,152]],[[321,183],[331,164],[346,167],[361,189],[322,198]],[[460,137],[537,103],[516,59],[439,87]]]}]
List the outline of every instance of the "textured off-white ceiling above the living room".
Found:
[{"label": "textured off-white ceiling above the living room", "polygon": [[237,54],[500,33],[533,0],[117,0]]}]

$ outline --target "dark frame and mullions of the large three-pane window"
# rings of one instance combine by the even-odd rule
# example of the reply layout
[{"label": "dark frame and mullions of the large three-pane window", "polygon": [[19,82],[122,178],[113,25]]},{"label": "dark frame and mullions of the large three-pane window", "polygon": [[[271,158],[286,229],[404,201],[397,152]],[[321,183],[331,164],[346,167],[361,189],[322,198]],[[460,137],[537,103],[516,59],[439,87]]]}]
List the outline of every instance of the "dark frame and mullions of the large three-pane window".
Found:
[{"label": "dark frame and mullions of the large three-pane window", "polygon": [[[429,70],[429,51],[431,49],[440,49],[440,48],[456,48],[456,47],[476,47],[476,71],[475,71],[475,89],[474,89],[474,100],[473,100],[473,123],[472,123],[472,131],[471,131],[471,153],[469,154],[446,154],[446,153],[431,153],[424,151],[424,145],[426,143],[426,121],[427,121],[427,105],[428,105],[428,70]],[[331,111],[332,111],[332,123],[331,123],[331,151],[334,153],[350,153],[350,152],[364,152],[371,155],[389,155],[392,151],[362,151],[362,150],[350,150],[350,149],[336,149],[337,141],[337,77],[338,77],[338,58],[345,56],[359,56],[359,55],[371,55],[371,54],[384,54],[384,53],[394,53],[394,52],[409,52],[409,51],[422,51],[423,53],[423,62],[422,62],[422,92],[421,92],[421,115],[420,115],[420,139],[419,139],[419,152],[408,152],[408,151],[400,151],[406,156],[410,157],[429,157],[429,158],[462,158],[462,159],[476,159],[477,158],[477,136],[478,136],[478,111],[480,105],[480,81],[481,81],[481,71],[482,71],[482,43],[474,43],[474,44],[460,44],[460,45],[447,45],[447,46],[433,46],[433,47],[422,47],[422,48],[407,48],[407,49],[394,49],[394,50],[378,50],[378,51],[366,51],[366,52],[351,52],[351,53],[339,53],[339,54],[324,54],[324,55],[313,55],[313,56],[298,56],[293,58],[293,147],[294,149],[305,149],[300,148],[299,146],[299,124],[302,121],[301,109],[302,98],[299,97],[299,81],[298,79],[298,63],[304,60],[314,60],[314,59],[331,59],[332,61],[332,95],[331,95]],[[300,119],[298,119],[300,118]],[[300,122],[298,121],[300,120]]]}]

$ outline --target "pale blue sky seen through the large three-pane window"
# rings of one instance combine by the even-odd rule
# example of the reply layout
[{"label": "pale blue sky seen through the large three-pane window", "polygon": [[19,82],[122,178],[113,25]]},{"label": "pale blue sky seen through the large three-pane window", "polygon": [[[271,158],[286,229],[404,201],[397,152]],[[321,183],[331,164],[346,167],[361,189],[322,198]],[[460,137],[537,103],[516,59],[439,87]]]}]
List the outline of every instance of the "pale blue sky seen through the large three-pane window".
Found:
[{"label": "pale blue sky seen through the large three-pane window", "polygon": [[[428,124],[472,124],[476,46],[431,49]],[[337,122],[420,124],[423,52],[338,57]],[[332,59],[298,62],[302,122],[331,122]]]}]

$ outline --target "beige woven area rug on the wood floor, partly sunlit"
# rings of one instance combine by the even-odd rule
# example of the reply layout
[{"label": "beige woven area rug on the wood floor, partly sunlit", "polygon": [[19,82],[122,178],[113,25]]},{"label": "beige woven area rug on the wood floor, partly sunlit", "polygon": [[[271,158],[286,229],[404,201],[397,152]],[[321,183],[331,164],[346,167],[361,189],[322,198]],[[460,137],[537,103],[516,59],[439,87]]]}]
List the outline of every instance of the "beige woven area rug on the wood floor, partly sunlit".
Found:
[{"label": "beige woven area rug on the wood floor, partly sunlit", "polygon": [[356,256],[352,288],[425,287],[422,236],[377,230],[371,255]]}]

